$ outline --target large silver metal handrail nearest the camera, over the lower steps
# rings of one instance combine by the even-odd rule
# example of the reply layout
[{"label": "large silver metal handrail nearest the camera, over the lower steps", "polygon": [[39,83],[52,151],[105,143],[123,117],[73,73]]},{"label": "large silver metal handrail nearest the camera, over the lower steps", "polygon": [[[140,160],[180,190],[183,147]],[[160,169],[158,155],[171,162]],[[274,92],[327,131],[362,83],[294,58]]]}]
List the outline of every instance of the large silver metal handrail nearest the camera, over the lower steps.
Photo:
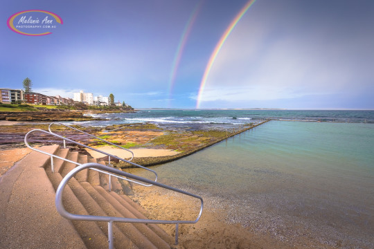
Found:
[{"label": "large silver metal handrail nearest the camera, over the lower steps", "polygon": [[[69,182],[71,178],[78,172],[80,172],[83,169],[92,169],[92,168],[98,168],[102,171],[111,172],[113,174],[119,174],[121,176],[125,176],[127,178],[132,178],[136,181],[142,181],[145,183],[150,183],[151,185],[155,185],[158,187],[163,187],[167,190],[172,190],[174,192],[179,192],[181,194],[185,194],[188,196],[192,196],[196,199],[199,199],[201,201],[200,205],[200,212],[195,219],[195,221],[168,221],[168,220],[152,220],[152,219],[134,219],[134,218],[123,218],[123,217],[113,217],[113,216],[93,216],[93,215],[81,215],[81,214],[71,214],[67,212],[64,209],[64,205],[62,204],[62,194],[64,192],[64,187]],[[62,179],[60,185],[57,187],[56,191],[56,198],[55,198],[55,205],[57,212],[60,213],[61,216],[63,216],[66,219],[71,220],[78,220],[78,221],[107,221],[108,223],[108,240],[109,240],[109,249],[114,248],[114,238],[113,238],[113,222],[128,222],[128,223],[158,223],[158,224],[175,224],[175,244],[178,244],[178,228],[179,224],[182,223],[190,223],[194,224],[199,221],[200,217],[202,216],[202,210],[204,206],[204,202],[202,197],[197,196],[195,194],[190,194],[189,192],[186,192],[184,190],[179,190],[175,187],[170,187],[168,185],[164,185],[162,183],[157,183],[155,181],[151,181],[148,178],[143,178],[141,176],[135,176],[133,174],[122,172],[121,170],[114,169],[112,167],[107,167],[105,165],[100,165],[98,163],[85,163],[84,165],[80,165],[78,167],[75,167],[74,169],[69,172],[69,174],[66,174],[66,176]]]}]

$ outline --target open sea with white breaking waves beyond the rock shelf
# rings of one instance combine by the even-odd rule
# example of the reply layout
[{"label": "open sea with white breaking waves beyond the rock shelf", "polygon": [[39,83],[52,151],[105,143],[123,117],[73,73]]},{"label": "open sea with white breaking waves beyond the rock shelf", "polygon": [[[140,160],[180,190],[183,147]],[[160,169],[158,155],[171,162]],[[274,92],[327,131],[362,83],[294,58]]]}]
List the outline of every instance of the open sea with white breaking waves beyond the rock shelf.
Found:
[{"label": "open sea with white breaking waves beyond the rock shelf", "polygon": [[75,122],[83,126],[150,122],[173,129],[231,129],[264,119],[374,123],[374,111],[325,110],[138,110],[135,113],[88,114],[103,120]]}]

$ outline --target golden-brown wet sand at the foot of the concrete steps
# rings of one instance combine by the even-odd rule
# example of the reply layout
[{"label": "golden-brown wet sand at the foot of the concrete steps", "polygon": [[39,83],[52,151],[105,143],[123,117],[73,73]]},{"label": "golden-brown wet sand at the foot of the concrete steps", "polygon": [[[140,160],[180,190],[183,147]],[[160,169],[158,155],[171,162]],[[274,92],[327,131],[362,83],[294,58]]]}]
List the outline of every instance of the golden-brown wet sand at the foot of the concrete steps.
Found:
[{"label": "golden-brown wet sand at the foot of the concrete steps", "polygon": [[[198,199],[159,187],[134,185],[133,190],[130,198],[149,212],[150,219],[195,221],[199,214]],[[308,240],[295,245],[267,233],[254,232],[240,223],[229,222],[226,208],[220,199],[204,197],[204,210],[199,221],[195,224],[179,225],[179,244],[175,248],[333,248],[323,244],[316,245]],[[160,226],[175,237],[175,225]]]}]

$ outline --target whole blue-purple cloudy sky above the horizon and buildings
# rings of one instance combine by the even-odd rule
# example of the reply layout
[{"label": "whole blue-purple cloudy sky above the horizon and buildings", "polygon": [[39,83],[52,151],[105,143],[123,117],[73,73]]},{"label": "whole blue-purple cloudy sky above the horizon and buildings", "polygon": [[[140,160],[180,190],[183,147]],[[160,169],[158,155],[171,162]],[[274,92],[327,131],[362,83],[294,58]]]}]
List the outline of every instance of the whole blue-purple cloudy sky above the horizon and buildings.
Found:
[{"label": "whole blue-purple cloudy sky above the horizon and buildings", "polygon": [[[139,109],[374,109],[374,1],[251,0],[227,34],[249,2],[4,1],[0,88],[28,77]],[[63,23],[20,35],[7,20],[24,10]]]}]

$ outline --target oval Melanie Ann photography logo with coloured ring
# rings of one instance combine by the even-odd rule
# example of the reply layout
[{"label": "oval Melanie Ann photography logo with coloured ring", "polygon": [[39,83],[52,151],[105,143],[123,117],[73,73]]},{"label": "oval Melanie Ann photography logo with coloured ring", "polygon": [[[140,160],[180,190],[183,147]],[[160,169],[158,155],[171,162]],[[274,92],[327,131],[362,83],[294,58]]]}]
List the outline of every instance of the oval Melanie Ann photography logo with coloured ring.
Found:
[{"label": "oval Melanie Ann photography logo with coloured ring", "polygon": [[11,15],[8,28],[20,35],[40,36],[52,34],[63,22],[61,17],[46,10],[24,10]]}]

